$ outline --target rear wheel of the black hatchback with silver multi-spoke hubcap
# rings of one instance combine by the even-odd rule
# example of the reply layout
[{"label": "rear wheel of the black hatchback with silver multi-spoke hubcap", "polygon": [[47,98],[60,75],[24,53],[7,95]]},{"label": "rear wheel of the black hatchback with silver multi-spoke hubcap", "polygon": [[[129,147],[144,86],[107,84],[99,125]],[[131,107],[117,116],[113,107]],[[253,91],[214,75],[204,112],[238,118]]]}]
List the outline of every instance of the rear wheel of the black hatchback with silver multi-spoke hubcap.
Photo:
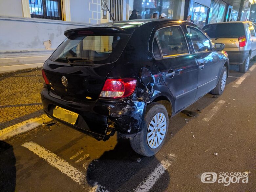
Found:
[{"label": "rear wheel of the black hatchback with silver multi-spoke hubcap", "polygon": [[[162,126],[160,127],[161,123]],[[130,140],[132,149],[143,156],[153,156],[162,147],[168,132],[168,113],[160,103],[147,106],[142,130]],[[155,140],[155,141],[154,141]]]}]

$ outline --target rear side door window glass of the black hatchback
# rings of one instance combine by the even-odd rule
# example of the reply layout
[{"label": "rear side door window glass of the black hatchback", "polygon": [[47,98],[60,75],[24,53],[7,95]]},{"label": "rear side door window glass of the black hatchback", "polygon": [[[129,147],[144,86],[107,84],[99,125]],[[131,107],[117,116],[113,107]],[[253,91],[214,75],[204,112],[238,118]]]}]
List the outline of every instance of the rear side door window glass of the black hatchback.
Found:
[{"label": "rear side door window glass of the black hatchback", "polygon": [[187,42],[180,26],[160,29],[156,32],[163,57],[188,53]]}]

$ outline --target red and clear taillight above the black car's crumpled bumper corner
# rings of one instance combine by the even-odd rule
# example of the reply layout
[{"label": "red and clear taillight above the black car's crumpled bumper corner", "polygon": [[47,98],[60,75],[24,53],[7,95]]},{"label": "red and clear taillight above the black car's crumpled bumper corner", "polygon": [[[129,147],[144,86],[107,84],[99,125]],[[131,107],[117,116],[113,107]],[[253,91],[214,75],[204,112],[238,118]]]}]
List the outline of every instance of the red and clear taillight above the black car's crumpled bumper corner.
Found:
[{"label": "red and clear taillight above the black car's crumpled bumper corner", "polygon": [[136,79],[107,79],[100,93],[100,97],[124,98],[133,94],[136,87]]}]

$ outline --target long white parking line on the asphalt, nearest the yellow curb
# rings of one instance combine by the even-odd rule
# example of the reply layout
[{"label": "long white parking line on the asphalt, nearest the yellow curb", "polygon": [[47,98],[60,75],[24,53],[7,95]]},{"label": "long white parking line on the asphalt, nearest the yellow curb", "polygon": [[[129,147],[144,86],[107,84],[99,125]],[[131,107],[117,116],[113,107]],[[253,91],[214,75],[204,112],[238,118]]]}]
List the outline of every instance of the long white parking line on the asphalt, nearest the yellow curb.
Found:
[{"label": "long white parking line on the asphalt, nearest the yellow curb", "polygon": [[83,172],[76,169],[75,167],[73,167],[67,161],[61,159],[54,153],[50,152],[49,150],[32,141],[26,142],[22,146],[28,148],[34,154],[46,160],[50,165],[52,165],[60,172],[64,173],[65,175],[73,179],[87,191],[91,189],[91,187],[88,187],[88,184],[86,183],[86,175]]}]

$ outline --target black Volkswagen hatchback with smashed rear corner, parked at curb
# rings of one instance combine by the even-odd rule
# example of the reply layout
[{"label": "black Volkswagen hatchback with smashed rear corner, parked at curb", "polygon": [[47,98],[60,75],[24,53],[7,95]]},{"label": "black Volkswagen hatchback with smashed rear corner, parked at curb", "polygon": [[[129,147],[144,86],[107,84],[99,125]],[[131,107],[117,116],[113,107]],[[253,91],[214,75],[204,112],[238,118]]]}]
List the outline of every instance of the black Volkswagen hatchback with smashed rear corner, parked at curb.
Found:
[{"label": "black Volkswagen hatchback with smashed rear corner, parked at curb", "polygon": [[65,35],[42,69],[44,112],[98,140],[118,131],[137,153],[152,156],[169,117],[224,91],[224,45],[191,22],[120,21]]}]

